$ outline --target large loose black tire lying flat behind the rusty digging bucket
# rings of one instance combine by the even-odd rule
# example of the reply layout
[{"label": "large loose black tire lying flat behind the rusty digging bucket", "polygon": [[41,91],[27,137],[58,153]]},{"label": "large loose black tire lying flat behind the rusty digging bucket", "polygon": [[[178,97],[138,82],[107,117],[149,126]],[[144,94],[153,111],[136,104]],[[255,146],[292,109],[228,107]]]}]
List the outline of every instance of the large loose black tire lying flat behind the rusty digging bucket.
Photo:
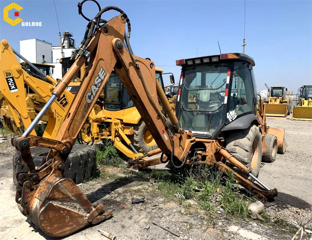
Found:
[{"label": "large loose black tire lying flat behind the rusty digging bucket", "polygon": [[[49,148],[35,147],[31,148],[33,161],[36,167],[42,166],[49,153]],[[27,168],[23,164],[18,164],[19,155],[13,156],[13,171],[27,173]],[[74,183],[79,184],[92,178],[96,173],[96,150],[95,148],[83,145],[73,145],[65,162],[64,177],[72,179]]]}]

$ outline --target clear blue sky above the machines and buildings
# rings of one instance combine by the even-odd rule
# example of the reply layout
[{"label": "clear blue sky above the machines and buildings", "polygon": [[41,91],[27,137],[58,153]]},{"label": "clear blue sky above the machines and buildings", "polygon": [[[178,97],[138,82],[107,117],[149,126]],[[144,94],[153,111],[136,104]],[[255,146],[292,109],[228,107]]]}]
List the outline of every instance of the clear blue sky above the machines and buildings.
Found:
[{"label": "clear blue sky above the machines and buildings", "polygon": [[[3,8],[12,1],[1,0]],[[19,51],[19,40],[38,38],[59,45],[53,1],[14,1],[23,7],[24,22],[42,22],[42,27],[11,26],[0,20],[1,39]],[[70,31],[79,46],[87,21],[78,15],[78,1],[56,0],[61,32]],[[181,58],[242,52],[244,1],[98,1],[101,7],[114,5],[127,13],[131,22],[131,46],[137,56],[151,58],[164,72],[174,73]],[[92,18],[98,12],[93,2],[83,5]],[[14,17],[14,10],[9,12]],[[110,11],[102,18],[109,19]],[[312,1],[246,1],[246,54],[254,58],[258,91],[283,85],[295,93],[312,84]],[[170,66],[170,67],[169,67]],[[172,67],[171,67],[172,66]],[[169,81],[167,81],[169,84]],[[166,83],[165,83],[166,84]]]}]

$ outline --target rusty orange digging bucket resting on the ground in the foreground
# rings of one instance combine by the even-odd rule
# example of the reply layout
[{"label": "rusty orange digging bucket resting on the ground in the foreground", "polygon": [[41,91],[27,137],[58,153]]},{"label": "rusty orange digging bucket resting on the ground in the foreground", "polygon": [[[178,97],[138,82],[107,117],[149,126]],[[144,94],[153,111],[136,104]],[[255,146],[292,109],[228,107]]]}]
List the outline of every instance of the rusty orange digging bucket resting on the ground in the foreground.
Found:
[{"label": "rusty orange digging bucket resting on the ground in the foreground", "polygon": [[69,235],[113,215],[103,212],[101,203],[93,207],[73,180],[61,178],[57,174],[42,180],[38,186],[31,188],[34,189],[32,192],[28,188],[26,184],[23,185],[20,200],[28,204],[21,204],[19,209],[50,237]]}]

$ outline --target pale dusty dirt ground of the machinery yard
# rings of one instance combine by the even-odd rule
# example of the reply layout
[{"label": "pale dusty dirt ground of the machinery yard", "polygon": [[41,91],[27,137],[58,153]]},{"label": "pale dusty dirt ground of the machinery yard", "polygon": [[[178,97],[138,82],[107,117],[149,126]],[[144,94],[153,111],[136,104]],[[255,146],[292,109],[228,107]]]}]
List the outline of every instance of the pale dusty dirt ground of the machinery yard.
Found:
[{"label": "pale dusty dirt ground of the machinery yard", "polygon": [[[259,178],[279,191],[278,205],[269,207],[268,213],[277,215],[298,225],[301,209],[303,221],[312,217],[312,122],[291,121],[285,118],[267,118],[271,127],[285,128],[287,152],[278,155],[274,163],[265,163]],[[0,238],[1,239],[50,239],[38,230],[18,210],[15,203],[15,189],[12,181],[12,157],[15,153],[10,142],[2,143],[0,148]],[[120,174],[119,174],[120,175]],[[122,176],[122,174],[120,175]],[[119,177],[119,176],[118,176]],[[111,207],[113,217],[93,227],[87,227],[64,239],[108,239],[97,231],[106,230],[118,236],[118,239],[291,239],[293,233],[267,226],[250,219],[235,219],[229,216],[215,216],[207,219],[204,212],[192,202],[194,212],[185,212],[181,205],[166,202],[157,191],[151,191],[153,185],[146,179],[136,176],[116,180],[95,179],[80,185],[83,192],[93,203],[103,203]],[[149,197],[144,203],[131,204],[131,197]],[[120,206],[125,205],[127,209]],[[210,221],[208,221],[210,220]],[[158,224],[178,233],[176,237],[152,224]],[[212,222],[212,223],[211,223]],[[300,235],[300,234],[299,234]],[[298,236],[299,236],[298,235]],[[304,233],[303,239],[310,234]],[[300,238],[300,237],[299,237]],[[296,238],[296,239],[299,239]]]}]

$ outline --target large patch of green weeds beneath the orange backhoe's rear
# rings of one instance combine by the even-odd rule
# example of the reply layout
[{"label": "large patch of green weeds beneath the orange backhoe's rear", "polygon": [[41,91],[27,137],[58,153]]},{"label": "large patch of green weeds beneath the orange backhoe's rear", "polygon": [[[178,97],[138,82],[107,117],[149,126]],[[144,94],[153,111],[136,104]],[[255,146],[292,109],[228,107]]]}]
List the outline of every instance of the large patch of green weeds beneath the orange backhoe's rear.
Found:
[{"label": "large patch of green weeds beneath the orange backhoe's rear", "polygon": [[[167,201],[178,203],[184,199],[176,198],[179,192],[185,199],[193,199],[207,214],[215,214],[217,207],[222,207],[226,214],[236,217],[249,217],[247,207],[256,201],[240,194],[236,180],[211,166],[200,165],[189,170],[175,170],[173,173],[153,170],[151,177],[158,179],[158,190]],[[184,208],[190,206],[183,205]]]}]

